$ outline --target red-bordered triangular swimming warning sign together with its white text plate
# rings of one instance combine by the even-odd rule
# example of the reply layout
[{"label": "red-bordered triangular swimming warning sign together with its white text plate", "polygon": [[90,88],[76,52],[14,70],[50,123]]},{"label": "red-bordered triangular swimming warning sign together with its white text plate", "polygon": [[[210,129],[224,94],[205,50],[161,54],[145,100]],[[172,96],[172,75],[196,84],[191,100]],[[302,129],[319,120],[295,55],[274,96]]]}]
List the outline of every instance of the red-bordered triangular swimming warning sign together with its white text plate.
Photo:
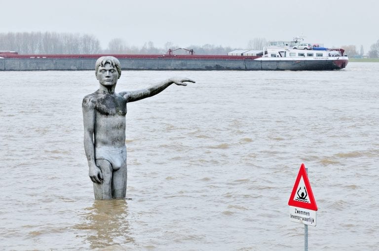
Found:
[{"label": "red-bordered triangular swimming warning sign together with its white text plate", "polygon": [[304,164],[296,177],[294,188],[288,201],[290,220],[305,225],[316,225],[317,205],[310,187]]}]

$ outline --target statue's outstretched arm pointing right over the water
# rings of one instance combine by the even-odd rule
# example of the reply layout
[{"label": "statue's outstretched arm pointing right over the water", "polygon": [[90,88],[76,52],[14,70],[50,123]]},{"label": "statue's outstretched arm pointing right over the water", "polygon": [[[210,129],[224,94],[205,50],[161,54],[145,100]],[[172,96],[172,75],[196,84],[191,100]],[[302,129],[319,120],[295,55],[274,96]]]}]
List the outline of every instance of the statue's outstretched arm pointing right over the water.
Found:
[{"label": "statue's outstretched arm pointing right over the water", "polygon": [[127,100],[127,102],[134,102],[158,94],[167,87],[169,87],[171,84],[176,84],[178,86],[186,86],[186,82],[195,83],[195,81],[189,78],[169,78],[155,85],[152,85],[146,89],[131,92],[121,92],[119,94],[122,95]]}]

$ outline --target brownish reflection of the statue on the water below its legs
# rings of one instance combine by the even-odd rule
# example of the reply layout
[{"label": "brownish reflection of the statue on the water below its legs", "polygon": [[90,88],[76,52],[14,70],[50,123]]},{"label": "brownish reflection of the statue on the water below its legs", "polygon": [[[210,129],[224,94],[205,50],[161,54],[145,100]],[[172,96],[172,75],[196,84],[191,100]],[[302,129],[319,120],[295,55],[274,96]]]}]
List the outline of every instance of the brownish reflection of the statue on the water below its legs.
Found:
[{"label": "brownish reflection of the statue on the water below its legs", "polygon": [[91,249],[134,242],[129,232],[129,213],[125,200],[95,200],[84,211],[83,222],[74,228],[87,232],[86,239]]}]

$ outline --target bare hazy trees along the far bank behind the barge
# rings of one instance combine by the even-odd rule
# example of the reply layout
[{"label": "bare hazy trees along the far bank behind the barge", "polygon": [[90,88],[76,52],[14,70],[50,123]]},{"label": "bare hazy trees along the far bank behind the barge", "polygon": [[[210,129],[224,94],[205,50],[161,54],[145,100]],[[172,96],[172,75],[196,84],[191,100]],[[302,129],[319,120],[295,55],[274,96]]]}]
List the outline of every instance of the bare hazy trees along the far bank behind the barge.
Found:
[{"label": "bare hazy trees along the far bank behind the barge", "polygon": [[[256,37],[248,41],[249,50],[262,50],[267,45],[265,38]],[[163,48],[157,48],[152,41],[142,47],[129,46],[122,38],[110,40],[108,48],[102,49],[100,41],[94,35],[58,32],[3,32],[0,33],[0,51],[16,51],[19,54],[166,54],[168,49],[181,48],[172,42],[166,42]],[[355,45],[342,45],[348,56],[364,55],[363,45],[358,52]],[[223,47],[205,44],[190,45],[198,55],[227,55],[241,48]],[[186,50],[177,50],[175,54],[188,54]],[[370,58],[379,58],[379,40],[371,45]]]}]

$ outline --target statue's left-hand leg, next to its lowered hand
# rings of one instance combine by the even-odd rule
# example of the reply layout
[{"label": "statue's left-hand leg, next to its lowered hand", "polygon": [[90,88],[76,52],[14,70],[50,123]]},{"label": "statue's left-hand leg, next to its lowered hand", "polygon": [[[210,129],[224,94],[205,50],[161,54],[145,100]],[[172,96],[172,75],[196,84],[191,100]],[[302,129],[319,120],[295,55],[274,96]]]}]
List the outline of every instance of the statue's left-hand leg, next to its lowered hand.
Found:
[{"label": "statue's left-hand leg, next to its lowered hand", "polygon": [[96,165],[103,174],[102,183],[93,183],[93,192],[95,199],[106,200],[112,199],[112,165],[106,159],[96,159]]}]

